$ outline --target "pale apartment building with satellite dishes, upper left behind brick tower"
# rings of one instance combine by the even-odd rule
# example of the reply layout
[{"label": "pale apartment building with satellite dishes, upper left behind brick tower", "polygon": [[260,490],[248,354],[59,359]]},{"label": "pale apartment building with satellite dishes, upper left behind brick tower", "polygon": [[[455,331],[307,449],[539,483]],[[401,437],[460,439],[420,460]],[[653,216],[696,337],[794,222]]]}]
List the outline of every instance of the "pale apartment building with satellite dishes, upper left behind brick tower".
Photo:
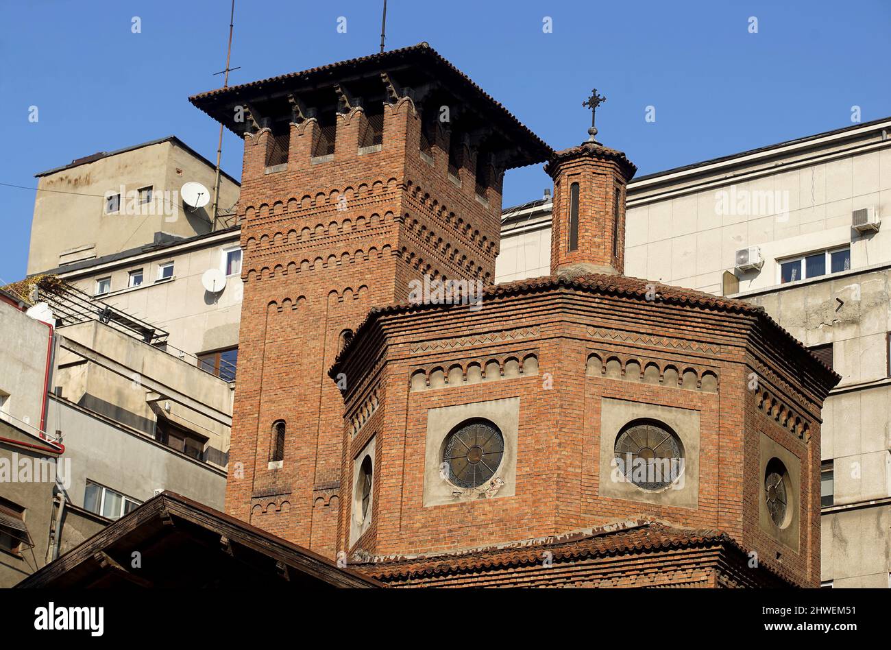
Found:
[{"label": "pale apartment building with satellite dishes, upper left behind brick tower", "polygon": [[[195,210],[178,192],[189,181],[212,192],[214,166],[175,136],[87,156],[37,177],[45,191],[35,203],[29,276],[59,276],[158,326],[168,333],[167,350],[233,380],[241,317],[238,182],[221,173],[219,216],[211,224],[212,203]],[[49,191],[60,188],[87,195]],[[118,201],[120,210],[108,210]],[[73,235],[71,223],[78,223]],[[226,278],[215,292],[202,284],[211,268]]]}]

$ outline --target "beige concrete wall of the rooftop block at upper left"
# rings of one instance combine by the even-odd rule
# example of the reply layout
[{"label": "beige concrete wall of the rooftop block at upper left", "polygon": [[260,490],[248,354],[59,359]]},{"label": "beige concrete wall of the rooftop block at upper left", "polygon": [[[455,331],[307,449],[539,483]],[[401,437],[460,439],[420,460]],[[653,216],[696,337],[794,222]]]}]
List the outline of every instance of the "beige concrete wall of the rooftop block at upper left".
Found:
[{"label": "beige concrete wall of the rooftop block at upper left", "polygon": [[[126,251],[163,232],[182,237],[208,233],[208,210],[186,210],[181,186],[197,181],[211,190],[214,168],[172,141],[138,147],[39,177],[28,274]],[[128,210],[127,193],[151,185],[155,214]],[[222,205],[237,201],[238,185],[223,177]],[[119,193],[121,210],[106,214],[104,196]],[[170,193],[165,195],[165,193]],[[134,206],[143,210],[144,206]]]}]

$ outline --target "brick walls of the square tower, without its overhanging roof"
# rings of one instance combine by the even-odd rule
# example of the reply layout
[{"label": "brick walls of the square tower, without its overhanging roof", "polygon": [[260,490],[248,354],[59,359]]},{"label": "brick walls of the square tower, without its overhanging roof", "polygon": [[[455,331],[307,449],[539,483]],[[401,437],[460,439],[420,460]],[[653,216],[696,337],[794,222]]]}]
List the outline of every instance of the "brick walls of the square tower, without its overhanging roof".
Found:
[{"label": "brick walls of the square tower, without its overhanging roof", "polygon": [[[467,149],[460,180],[450,179],[444,128],[422,157],[410,99],[385,106],[380,151],[359,152],[365,120],[361,109],[339,114],[333,156],[316,159],[315,119],[291,125],[284,169],[266,169],[273,139],[260,129],[245,138],[242,172],[244,300],[226,510],[329,556],[352,466],[341,449],[343,401],[327,375],[342,333],[373,305],[405,300],[413,278],[491,282],[500,226],[500,172],[481,201]],[[270,469],[280,419],[285,454]]]}]

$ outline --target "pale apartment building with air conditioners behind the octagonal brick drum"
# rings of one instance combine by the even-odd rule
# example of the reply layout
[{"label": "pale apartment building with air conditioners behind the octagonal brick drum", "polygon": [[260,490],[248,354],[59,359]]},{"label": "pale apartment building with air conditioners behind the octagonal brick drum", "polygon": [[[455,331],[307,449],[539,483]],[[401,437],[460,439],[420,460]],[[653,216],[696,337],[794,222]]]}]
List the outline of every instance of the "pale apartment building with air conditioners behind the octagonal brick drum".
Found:
[{"label": "pale apartment building with air conditioners behind the octagonal brick drum", "polygon": [[[628,276],[749,300],[842,381],[823,407],[822,581],[889,586],[891,119],[628,185]],[[505,210],[496,281],[550,264],[551,202]],[[740,252],[741,251],[741,252]]]}]

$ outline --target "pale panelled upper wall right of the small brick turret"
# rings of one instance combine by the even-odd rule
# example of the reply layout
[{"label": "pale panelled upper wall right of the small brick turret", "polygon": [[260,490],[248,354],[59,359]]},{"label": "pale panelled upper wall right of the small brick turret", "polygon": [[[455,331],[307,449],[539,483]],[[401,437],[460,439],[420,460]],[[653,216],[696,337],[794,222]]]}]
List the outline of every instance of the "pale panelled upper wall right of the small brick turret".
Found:
[{"label": "pale panelled upper wall right of the small brick turret", "polygon": [[[625,275],[720,293],[736,251],[759,246],[764,267],[740,273],[745,292],[780,284],[777,260],[805,252],[850,245],[852,268],[891,261],[891,229],[867,235],[851,229],[851,212],[860,208],[891,218],[891,143],[741,177],[721,185],[709,178],[707,187],[655,200],[629,193]],[[725,208],[733,213],[723,214]]]}]

